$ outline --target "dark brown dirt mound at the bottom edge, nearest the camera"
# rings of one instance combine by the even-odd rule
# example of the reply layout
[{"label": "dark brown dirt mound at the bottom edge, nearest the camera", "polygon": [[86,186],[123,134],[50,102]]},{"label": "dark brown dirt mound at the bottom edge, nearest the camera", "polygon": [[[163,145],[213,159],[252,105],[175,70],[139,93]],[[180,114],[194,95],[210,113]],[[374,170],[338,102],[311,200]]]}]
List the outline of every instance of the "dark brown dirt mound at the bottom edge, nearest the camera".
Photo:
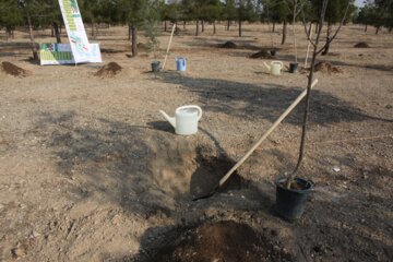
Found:
[{"label": "dark brown dirt mound at the bottom edge, nearest the camera", "polygon": [[218,222],[182,231],[152,261],[293,261],[277,240],[269,240],[246,224]]}]

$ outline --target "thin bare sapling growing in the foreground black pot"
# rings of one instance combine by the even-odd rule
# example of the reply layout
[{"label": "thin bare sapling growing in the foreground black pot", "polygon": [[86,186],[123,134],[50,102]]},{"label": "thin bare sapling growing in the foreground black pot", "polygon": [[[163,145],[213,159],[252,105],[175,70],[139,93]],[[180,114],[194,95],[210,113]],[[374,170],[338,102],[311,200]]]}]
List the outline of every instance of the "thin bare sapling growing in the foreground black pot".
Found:
[{"label": "thin bare sapling growing in the foreground black pot", "polygon": [[[349,8],[349,4],[350,4],[348,2],[348,5],[346,7],[345,13],[343,15],[343,19],[342,19],[336,32],[333,34],[332,37],[326,39],[326,43],[323,45],[322,48],[319,48],[320,36],[321,36],[322,28],[323,28],[323,21],[324,21],[324,16],[325,16],[326,9],[327,9],[327,3],[329,3],[329,0],[323,0],[323,2],[322,2],[322,9],[321,9],[320,16],[319,16],[318,32],[317,32],[317,35],[315,35],[315,40],[308,39],[311,43],[311,45],[313,47],[313,50],[312,50],[312,59],[311,59],[310,72],[309,72],[309,75],[308,75],[306,107],[305,107],[303,119],[302,119],[299,156],[298,156],[298,160],[297,160],[297,164],[296,164],[296,167],[295,167],[294,171],[289,174],[289,176],[286,178],[286,180],[284,182],[284,187],[286,189],[290,189],[290,186],[291,186],[291,183],[294,181],[294,178],[295,178],[296,174],[299,171],[299,168],[300,168],[300,166],[302,164],[302,159],[303,159],[303,155],[305,155],[307,123],[308,123],[308,115],[309,115],[310,98],[311,98],[311,84],[313,82],[317,57],[324,50],[326,45],[332,43],[334,40],[334,38],[337,36],[340,29],[342,28],[342,25],[344,24],[344,21],[345,21],[345,17],[347,15],[348,8]],[[302,13],[302,24],[303,24],[303,27],[305,27],[305,31],[306,31],[306,35],[309,38],[310,34],[309,34],[309,32],[307,29],[307,22],[306,22],[305,12],[303,12],[302,9],[301,9],[301,13]]]}]

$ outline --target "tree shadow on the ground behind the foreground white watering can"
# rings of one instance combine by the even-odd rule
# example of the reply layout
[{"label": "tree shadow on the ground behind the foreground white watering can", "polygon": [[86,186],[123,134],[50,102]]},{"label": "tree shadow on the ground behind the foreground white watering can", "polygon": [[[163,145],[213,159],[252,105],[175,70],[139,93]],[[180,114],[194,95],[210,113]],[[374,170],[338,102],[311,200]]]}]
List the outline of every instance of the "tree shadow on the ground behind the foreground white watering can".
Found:
[{"label": "tree shadow on the ground behind the foreground white watering can", "polygon": [[[176,72],[163,72],[158,75],[165,83],[180,85],[196,94],[207,111],[225,112],[228,116],[248,119],[266,119],[275,121],[278,116],[300,94],[299,87],[286,87],[277,84],[248,84],[218,79],[195,79]],[[285,121],[300,124],[303,104],[300,104]],[[321,126],[334,122],[356,122],[379,120],[392,122],[369,116],[348,102],[330,93],[314,90],[311,98],[310,122]]]}]

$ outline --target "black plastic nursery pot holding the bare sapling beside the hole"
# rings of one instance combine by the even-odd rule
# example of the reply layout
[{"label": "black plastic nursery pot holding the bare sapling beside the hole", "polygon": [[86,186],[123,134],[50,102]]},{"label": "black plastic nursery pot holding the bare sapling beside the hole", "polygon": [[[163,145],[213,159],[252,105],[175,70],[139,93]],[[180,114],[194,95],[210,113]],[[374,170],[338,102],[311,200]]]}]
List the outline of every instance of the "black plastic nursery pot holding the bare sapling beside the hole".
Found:
[{"label": "black plastic nursery pot holding the bare sapling beside the hole", "polygon": [[285,178],[276,181],[275,210],[281,217],[295,221],[301,217],[309,193],[313,184],[302,178],[295,178],[290,189],[284,188]]}]

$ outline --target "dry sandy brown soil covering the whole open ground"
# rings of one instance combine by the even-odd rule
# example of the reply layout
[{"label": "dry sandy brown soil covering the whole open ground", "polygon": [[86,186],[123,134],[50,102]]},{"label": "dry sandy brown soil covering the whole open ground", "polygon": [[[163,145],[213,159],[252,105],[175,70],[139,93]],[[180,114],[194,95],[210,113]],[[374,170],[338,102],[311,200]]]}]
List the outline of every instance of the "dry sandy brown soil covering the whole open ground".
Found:
[{"label": "dry sandy brown soil covering the whole open ground", "polygon": [[[222,222],[248,225],[294,261],[392,260],[393,35],[348,25],[319,59],[341,73],[317,73],[301,170],[315,189],[302,218],[288,223],[274,212],[273,181],[296,163],[301,106],[227,189],[191,201],[215,186],[307,82],[305,73],[272,76],[262,59],[248,58],[271,47],[273,36],[277,59],[288,66],[290,34],[281,46],[266,25],[246,25],[241,38],[235,27],[219,25],[215,36],[211,29],[194,37],[189,25],[176,36],[167,71],[158,74],[148,72],[153,55],[127,56],[127,27],[100,29],[95,40],[105,62],[122,67],[114,78],[95,76],[102,64],[31,63],[25,33],[0,41],[0,62],[32,72],[0,71],[1,261],[152,261],[190,227]],[[307,43],[297,31],[303,62]],[[55,41],[49,32],[37,34],[38,41]],[[160,36],[162,49],[168,38]],[[217,48],[227,40],[242,48]],[[371,48],[354,48],[359,41]],[[177,56],[188,59],[186,73],[175,71]],[[158,114],[186,104],[204,109],[192,136],[174,134]]]}]

